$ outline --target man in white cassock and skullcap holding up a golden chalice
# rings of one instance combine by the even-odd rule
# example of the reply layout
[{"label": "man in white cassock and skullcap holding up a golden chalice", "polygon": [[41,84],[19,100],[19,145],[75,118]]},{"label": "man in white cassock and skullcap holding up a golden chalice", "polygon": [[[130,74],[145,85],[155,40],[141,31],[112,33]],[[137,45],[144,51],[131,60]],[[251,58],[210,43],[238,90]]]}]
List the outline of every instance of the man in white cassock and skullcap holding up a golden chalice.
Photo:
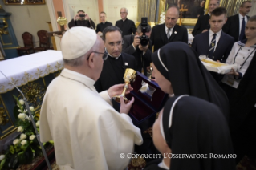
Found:
[{"label": "man in white cassock and skullcap holding up a golden chalice", "polygon": [[112,108],[111,98],[120,95],[124,84],[100,94],[93,86],[106,57],[104,42],[95,30],[76,26],[63,35],[61,48],[64,69],[43,99],[41,141],[54,140],[57,164],[65,169],[126,168],[126,155],[134,144],[142,144],[142,137],[127,115],[134,99],[121,100],[120,113]]}]

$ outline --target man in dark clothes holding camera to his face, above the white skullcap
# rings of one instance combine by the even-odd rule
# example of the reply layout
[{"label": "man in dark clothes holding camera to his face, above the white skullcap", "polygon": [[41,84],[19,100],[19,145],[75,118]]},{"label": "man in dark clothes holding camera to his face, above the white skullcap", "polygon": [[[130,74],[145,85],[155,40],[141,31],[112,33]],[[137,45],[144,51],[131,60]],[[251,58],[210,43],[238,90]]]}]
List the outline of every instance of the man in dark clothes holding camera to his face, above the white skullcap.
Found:
[{"label": "man in dark clothes holding camera to his face, above the white skullcap", "polygon": [[73,26],[87,26],[88,28],[95,29],[95,23],[83,10],[79,10],[75,17],[68,23],[68,27]]}]

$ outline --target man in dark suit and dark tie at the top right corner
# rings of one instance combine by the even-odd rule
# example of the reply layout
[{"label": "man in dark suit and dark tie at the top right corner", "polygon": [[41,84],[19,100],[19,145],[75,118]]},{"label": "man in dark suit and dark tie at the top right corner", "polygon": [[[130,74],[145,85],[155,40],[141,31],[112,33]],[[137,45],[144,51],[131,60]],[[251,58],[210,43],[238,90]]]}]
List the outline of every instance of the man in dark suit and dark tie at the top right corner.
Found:
[{"label": "man in dark suit and dark tie at the top right corner", "polygon": [[252,3],[250,1],[242,2],[239,7],[239,13],[229,17],[223,26],[223,31],[234,37],[235,42],[246,38],[245,27],[249,18],[246,14],[250,12],[251,6]]}]

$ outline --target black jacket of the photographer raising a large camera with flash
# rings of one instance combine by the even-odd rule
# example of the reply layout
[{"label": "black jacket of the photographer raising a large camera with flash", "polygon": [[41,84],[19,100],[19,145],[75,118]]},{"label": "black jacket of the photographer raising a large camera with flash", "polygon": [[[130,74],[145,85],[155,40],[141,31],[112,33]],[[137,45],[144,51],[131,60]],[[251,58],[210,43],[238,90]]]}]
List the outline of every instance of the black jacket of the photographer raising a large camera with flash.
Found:
[{"label": "black jacket of the photographer raising a large camera with flash", "polygon": [[[144,75],[147,76],[147,67],[152,62],[152,60],[151,60],[152,51],[150,51],[148,49],[146,51],[146,53],[143,55],[143,51],[140,51],[140,49],[138,47],[136,49],[134,49],[134,47],[132,46],[134,36],[135,35],[130,34],[130,35],[125,35],[123,37],[124,44],[123,44],[122,51],[129,55],[133,55],[135,57],[135,61],[136,61],[136,71],[141,72],[141,68],[143,68]],[[150,43],[152,43],[152,41],[150,41],[149,44]],[[150,47],[150,45],[148,47]]]}]

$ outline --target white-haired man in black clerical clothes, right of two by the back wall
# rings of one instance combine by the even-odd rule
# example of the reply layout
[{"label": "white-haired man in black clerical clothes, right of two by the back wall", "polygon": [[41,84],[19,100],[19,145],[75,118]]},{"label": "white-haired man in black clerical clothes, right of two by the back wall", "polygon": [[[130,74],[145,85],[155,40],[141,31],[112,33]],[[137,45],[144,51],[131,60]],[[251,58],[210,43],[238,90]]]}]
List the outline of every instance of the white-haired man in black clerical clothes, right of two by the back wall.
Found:
[{"label": "white-haired man in black clerical clothes, right of two by the back wall", "polygon": [[122,19],[116,22],[116,26],[118,26],[120,30],[122,30],[122,37],[124,37],[124,35],[132,34],[132,33],[135,34],[136,27],[134,22],[127,18],[127,15],[128,15],[127,8],[121,8],[120,15]]}]

